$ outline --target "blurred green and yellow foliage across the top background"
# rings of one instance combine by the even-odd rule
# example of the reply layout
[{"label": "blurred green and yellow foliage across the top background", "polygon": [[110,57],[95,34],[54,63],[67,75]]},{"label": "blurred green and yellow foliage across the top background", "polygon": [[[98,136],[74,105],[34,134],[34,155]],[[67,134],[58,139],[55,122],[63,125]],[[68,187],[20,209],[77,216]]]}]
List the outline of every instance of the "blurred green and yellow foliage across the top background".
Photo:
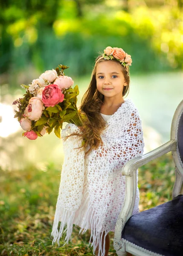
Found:
[{"label": "blurred green and yellow foliage across the top background", "polygon": [[137,2],[0,0],[0,72],[64,63],[84,75],[109,45],[132,56],[133,73],[183,69],[182,1]]}]

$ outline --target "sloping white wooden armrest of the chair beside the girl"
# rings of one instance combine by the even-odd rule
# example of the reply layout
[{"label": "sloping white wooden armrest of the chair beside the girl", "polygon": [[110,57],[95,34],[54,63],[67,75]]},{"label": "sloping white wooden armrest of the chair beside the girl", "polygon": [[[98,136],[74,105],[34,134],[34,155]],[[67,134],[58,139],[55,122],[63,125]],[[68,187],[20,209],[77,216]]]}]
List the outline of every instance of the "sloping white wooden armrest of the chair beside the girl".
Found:
[{"label": "sloping white wooden armrest of the chair beside the girl", "polygon": [[136,172],[140,166],[143,166],[146,163],[149,163],[152,160],[163,156],[169,151],[176,151],[176,148],[177,148],[176,140],[169,140],[167,143],[148,152],[147,154],[144,154],[142,157],[134,157],[132,160],[129,160],[122,167],[122,175],[133,176],[134,172]]}]

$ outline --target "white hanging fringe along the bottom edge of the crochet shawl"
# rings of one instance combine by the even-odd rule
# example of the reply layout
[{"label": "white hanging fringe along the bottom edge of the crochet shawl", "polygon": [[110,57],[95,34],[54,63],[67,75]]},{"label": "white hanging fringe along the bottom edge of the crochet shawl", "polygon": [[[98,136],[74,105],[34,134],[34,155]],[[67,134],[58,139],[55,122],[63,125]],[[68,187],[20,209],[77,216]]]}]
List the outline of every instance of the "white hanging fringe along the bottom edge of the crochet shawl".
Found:
[{"label": "white hanging fringe along the bottom edge of the crochet shawl", "polygon": [[[88,209],[87,209],[86,218],[84,220],[84,222],[86,223],[87,226],[84,230],[83,230],[83,228],[81,228],[79,231],[79,234],[81,233],[82,230],[83,230],[82,234],[84,234],[87,231],[87,229],[89,229],[88,222],[87,222],[89,210],[90,210],[90,207],[88,207]],[[62,221],[61,221],[60,229],[58,231],[60,212],[62,212],[62,217],[61,217]],[[59,246],[59,240],[61,239],[62,234],[65,233],[66,231],[67,231],[67,233],[66,233],[66,237],[65,237],[64,241],[66,241],[66,240],[67,241],[64,243],[64,245],[68,244],[69,240],[72,241],[71,235],[73,232],[74,215],[75,215],[75,211],[72,212],[68,209],[64,209],[61,206],[56,207],[55,218],[54,218],[52,233],[51,233],[51,237],[53,237],[52,244],[57,242],[58,246]],[[81,214],[79,215],[79,218],[80,217],[81,217]],[[91,244],[91,246],[93,246],[93,254],[95,255],[96,247],[99,245],[98,256],[105,256],[105,238],[106,238],[108,232],[105,230],[102,230],[102,228],[100,227],[101,223],[102,222],[99,221],[99,218],[97,218],[97,216],[94,214],[94,212],[92,212],[92,214],[90,216],[91,236],[90,236],[90,241],[89,241],[88,247],[91,243],[91,239],[93,238],[93,242]],[[67,225],[67,228],[64,230],[65,225]],[[104,232],[105,232],[104,244],[102,247],[102,236],[103,236]],[[61,247],[64,247],[64,245]]]}]

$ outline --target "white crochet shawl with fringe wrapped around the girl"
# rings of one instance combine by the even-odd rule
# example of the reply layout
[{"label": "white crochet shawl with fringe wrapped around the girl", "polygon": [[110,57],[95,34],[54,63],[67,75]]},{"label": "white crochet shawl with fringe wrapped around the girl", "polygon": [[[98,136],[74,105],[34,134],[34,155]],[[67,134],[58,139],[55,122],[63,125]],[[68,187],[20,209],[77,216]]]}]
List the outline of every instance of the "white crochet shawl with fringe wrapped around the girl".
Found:
[{"label": "white crochet shawl with fringe wrapped around the girl", "polygon": [[[74,149],[81,146],[82,137],[75,135],[67,140],[63,139],[64,163],[51,234],[53,243],[57,241],[58,245],[65,231],[67,231],[64,239],[66,243],[68,244],[69,240],[72,241],[71,234],[76,210],[79,211],[79,221],[82,217],[84,202],[89,199],[86,218],[82,219],[85,227],[83,233],[91,229],[90,241],[93,238],[91,244],[93,254],[99,245],[99,256],[100,253],[101,256],[105,255],[105,243],[102,248],[102,235],[104,231],[106,236],[108,232],[114,230],[124,204],[125,176],[121,174],[122,166],[128,160],[142,156],[144,151],[141,119],[131,99],[126,99],[110,116],[107,123],[108,126],[101,136],[104,145],[99,146],[97,150],[92,150],[86,157],[84,151]],[[80,129],[74,124],[67,124],[62,130],[61,137],[73,132],[80,132]],[[138,187],[133,214],[137,212],[139,212]],[[61,225],[58,231],[59,221]],[[67,228],[64,230],[65,225]]]}]

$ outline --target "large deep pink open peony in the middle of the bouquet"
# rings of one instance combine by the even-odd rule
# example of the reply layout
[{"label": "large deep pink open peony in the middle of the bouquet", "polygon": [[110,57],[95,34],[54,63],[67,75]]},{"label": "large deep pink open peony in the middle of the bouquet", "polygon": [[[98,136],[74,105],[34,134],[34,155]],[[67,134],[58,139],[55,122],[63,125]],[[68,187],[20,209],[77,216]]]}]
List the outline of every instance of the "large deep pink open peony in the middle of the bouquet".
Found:
[{"label": "large deep pink open peony in the middle of the bouquet", "polygon": [[63,102],[64,94],[56,84],[47,85],[42,94],[42,101],[46,107],[54,107],[59,102]]}]

